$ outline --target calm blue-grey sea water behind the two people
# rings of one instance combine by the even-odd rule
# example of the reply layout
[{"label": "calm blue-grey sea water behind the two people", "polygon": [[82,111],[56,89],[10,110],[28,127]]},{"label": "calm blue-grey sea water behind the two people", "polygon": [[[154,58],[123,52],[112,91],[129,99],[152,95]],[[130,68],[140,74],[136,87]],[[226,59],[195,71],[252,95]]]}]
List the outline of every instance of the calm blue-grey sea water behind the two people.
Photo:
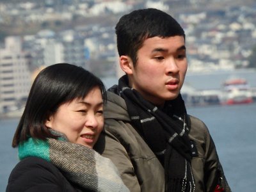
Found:
[{"label": "calm blue-grey sea water behind the two people", "polygon": [[[188,108],[188,113],[205,122],[218,150],[232,191],[254,192],[256,183],[256,103],[236,106]],[[12,138],[18,119],[0,120],[0,191],[5,191],[17,149]]]}]

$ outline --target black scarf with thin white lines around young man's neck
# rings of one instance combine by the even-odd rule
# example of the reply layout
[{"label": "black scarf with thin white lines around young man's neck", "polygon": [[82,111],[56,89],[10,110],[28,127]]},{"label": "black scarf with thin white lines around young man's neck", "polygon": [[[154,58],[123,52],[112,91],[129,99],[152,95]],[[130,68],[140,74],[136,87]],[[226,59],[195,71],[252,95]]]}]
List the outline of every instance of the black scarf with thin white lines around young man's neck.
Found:
[{"label": "black scarf with thin white lines around young man's neck", "polygon": [[136,131],[164,166],[165,191],[195,191],[187,113],[181,95],[159,109],[129,88],[127,76],[121,77],[115,88],[125,100]]}]

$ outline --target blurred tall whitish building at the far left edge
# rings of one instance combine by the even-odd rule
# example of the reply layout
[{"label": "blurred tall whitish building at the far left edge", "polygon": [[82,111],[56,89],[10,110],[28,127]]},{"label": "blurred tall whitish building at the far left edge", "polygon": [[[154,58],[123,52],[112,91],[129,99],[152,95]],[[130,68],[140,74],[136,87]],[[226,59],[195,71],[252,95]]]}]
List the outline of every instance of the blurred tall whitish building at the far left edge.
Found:
[{"label": "blurred tall whitish building at the far left edge", "polygon": [[20,37],[9,36],[0,49],[0,113],[23,107],[30,87],[29,55],[22,52]]}]

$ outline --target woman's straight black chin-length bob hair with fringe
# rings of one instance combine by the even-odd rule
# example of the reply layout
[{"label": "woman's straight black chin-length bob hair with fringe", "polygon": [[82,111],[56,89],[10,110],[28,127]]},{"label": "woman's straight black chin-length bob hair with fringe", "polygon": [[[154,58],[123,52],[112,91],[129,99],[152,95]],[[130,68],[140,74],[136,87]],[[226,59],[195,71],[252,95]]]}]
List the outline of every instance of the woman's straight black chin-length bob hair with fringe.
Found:
[{"label": "woman's straight black chin-length bob hair with fringe", "polygon": [[88,70],[68,63],[44,68],[31,87],[24,112],[13,137],[12,147],[29,137],[45,140],[56,138],[45,127],[45,122],[58,107],[76,98],[86,97],[95,87],[106,102],[106,89],[100,79]]}]

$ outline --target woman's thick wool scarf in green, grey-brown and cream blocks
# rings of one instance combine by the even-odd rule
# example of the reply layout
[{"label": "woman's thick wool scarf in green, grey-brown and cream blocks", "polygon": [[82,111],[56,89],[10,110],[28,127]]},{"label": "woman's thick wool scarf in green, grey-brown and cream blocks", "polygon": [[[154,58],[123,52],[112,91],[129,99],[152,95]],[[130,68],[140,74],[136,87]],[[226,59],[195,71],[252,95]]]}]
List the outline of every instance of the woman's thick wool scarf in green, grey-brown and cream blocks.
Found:
[{"label": "woman's thick wool scarf in green, grey-brown and cream blocks", "polygon": [[31,156],[51,162],[84,191],[129,191],[108,158],[88,147],[68,142],[63,135],[58,140],[29,138],[20,144],[19,159]]}]

